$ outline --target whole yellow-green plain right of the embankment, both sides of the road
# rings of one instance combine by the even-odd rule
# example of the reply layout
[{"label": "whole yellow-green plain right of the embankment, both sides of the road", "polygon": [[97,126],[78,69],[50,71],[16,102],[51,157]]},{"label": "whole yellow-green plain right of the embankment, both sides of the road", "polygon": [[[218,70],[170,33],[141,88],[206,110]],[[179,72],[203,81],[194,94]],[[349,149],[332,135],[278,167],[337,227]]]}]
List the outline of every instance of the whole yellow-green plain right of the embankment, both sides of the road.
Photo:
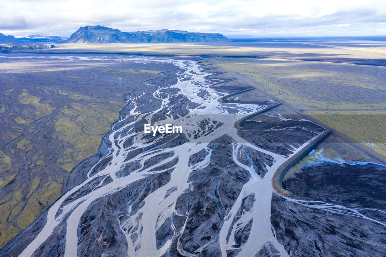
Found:
[{"label": "whole yellow-green plain right of the embankment, both sides of the road", "polygon": [[208,61],[386,157],[386,68],[256,58]]}]

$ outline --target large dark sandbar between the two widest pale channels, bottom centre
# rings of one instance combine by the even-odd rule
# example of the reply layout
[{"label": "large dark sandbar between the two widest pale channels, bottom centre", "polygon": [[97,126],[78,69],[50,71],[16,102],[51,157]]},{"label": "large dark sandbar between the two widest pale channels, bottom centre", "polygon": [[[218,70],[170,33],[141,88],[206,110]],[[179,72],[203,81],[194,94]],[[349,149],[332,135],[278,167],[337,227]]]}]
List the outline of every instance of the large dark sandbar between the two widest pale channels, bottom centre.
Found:
[{"label": "large dark sandbar between the two widest pale channels, bottom centre", "polygon": [[[177,198],[177,214],[186,215],[185,229],[183,230],[185,219],[181,220],[182,222],[173,222],[177,231],[183,230],[179,242],[187,252],[194,252],[198,245],[212,241],[209,247],[203,250],[204,256],[221,255],[218,234],[224,222],[223,217],[232,208],[242,185],[249,180],[249,174],[232,160],[232,150],[229,150],[232,149],[232,138],[225,135],[216,141],[219,142],[208,145],[208,148],[213,148],[211,156],[213,161],[208,167],[191,172],[187,181],[191,183],[191,190],[186,190]],[[193,159],[200,154],[191,156],[192,164],[195,163]],[[178,217],[174,215],[173,219]],[[161,235],[164,233],[165,231],[162,231]],[[204,235],[207,237],[203,238]],[[157,237],[157,241],[160,240],[162,237]],[[177,241],[173,240],[170,249],[163,256],[181,256],[176,243]]]}]

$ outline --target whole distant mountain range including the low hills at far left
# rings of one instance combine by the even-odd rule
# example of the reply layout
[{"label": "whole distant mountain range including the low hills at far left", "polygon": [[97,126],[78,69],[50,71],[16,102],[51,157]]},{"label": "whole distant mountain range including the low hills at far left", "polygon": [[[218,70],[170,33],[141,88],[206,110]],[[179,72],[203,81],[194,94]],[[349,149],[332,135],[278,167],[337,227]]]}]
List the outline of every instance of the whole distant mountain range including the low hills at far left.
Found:
[{"label": "whole distant mountain range including the low hills at far left", "polygon": [[0,33],[0,44],[44,44],[44,43],[173,43],[173,42],[218,42],[229,39],[218,33],[198,33],[185,30],[147,30],[122,32],[104,26],[80,27],[68,39],[59,36],[30,35],[28,37],[5,36]]}]

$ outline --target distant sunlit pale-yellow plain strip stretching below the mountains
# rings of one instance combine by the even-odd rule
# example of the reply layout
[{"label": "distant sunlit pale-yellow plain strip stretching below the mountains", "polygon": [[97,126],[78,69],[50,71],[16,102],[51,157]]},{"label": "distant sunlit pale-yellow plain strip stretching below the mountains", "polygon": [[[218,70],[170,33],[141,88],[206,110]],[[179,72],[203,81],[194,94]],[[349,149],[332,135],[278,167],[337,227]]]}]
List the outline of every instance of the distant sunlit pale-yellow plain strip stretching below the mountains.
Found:
[{"label": "distant sunlit pale-yellow plain strip stretching below the mountains", "polygon": [[[347,41],[343,41],[343,43]],[[201,56],[265,56],[301,59],[386,59],[384,41],[350,41],[350,47],[339,46],[342,41],[280,42],[208,42],[208,43],[146,43],[146,44],[56,44],[56,48],[36,50],[44,53],[110,52],[143,55],[201,55]]]}]

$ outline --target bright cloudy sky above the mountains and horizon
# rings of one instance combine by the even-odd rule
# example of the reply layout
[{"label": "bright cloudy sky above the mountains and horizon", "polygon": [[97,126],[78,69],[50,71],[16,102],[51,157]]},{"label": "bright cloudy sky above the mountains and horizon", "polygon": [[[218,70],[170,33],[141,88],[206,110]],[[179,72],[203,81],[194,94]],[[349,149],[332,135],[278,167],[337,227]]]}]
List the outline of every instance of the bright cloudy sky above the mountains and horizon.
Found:
[{"label": "bright cloudy sky above the mountains and horizon", "polygon": [[80,26],[255,36],[386,35],[386,0],[0,0],[0,32],[70,36]]}]

